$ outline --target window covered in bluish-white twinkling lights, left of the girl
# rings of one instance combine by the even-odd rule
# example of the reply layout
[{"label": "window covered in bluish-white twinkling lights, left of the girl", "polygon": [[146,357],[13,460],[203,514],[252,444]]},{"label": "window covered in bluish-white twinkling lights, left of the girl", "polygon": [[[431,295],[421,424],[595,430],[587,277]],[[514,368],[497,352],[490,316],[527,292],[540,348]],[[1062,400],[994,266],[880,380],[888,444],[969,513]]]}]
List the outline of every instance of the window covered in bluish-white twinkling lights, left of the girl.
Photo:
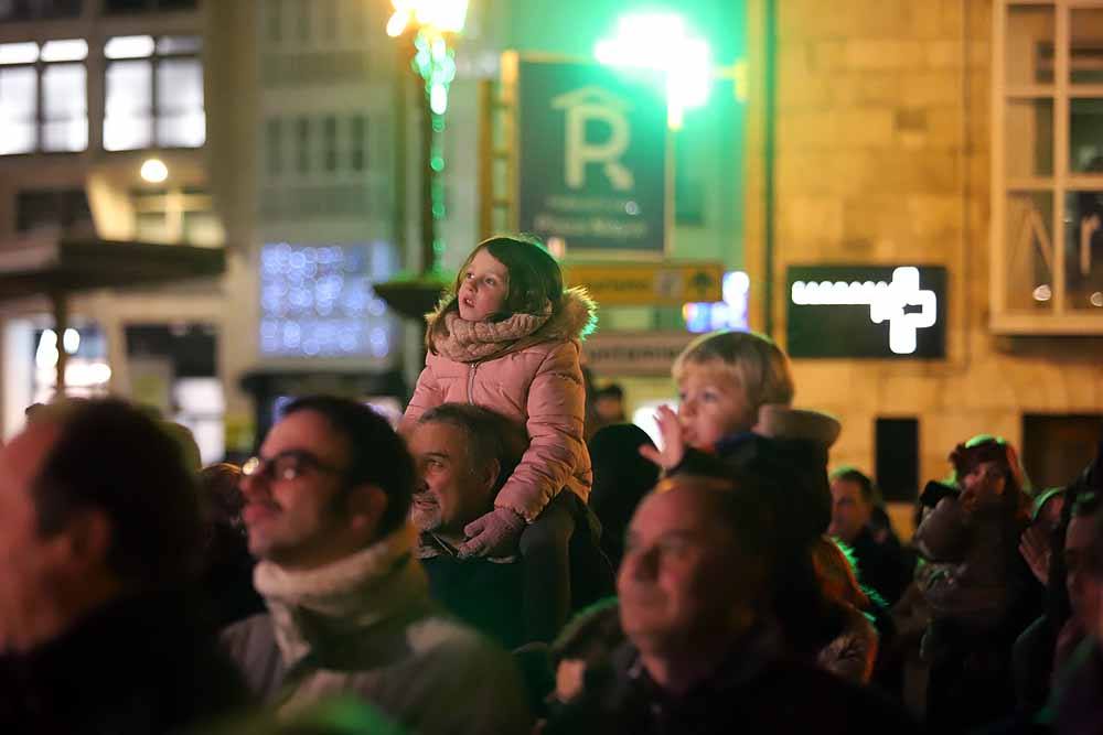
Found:
[{"label": "window covered in bluish-white twinkling lights, left of the girl", "polygon": [[260,352],[270,357],[370,357],[394,349],[396,325],[372,284],[395,270],[387,244],[265,245]]}]

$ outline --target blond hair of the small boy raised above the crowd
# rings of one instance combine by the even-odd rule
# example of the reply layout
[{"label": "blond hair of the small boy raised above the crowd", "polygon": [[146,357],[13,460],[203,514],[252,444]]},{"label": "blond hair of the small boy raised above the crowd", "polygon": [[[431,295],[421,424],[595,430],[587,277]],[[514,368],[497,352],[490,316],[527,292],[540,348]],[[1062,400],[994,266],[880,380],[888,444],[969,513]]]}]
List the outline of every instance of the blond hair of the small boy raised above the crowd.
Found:
[{"label": "blond hair of the small boy raised above the crowd", "polygon": [[754,332],[714,332],[697,337],[682,350],[671,372],[685,377],[688,366],[728,372],[757,411],[764,403],[793,402],[793,375],[789,357],[773,339]]}]

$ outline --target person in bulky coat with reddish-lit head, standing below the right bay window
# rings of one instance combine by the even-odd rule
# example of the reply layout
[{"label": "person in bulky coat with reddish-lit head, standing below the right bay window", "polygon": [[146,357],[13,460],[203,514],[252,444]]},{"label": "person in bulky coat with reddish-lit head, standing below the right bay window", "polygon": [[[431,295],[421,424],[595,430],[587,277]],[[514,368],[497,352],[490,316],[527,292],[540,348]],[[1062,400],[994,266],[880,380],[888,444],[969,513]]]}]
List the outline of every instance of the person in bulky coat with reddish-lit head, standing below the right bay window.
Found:
[{"label": "person in bulky coat with reddish-lit head, standing below the right bay window", "polygon": [[1036,583],[1018,550],[1030,498],[1014,447],[981,435],[950,461],[960,491],[939,499],[913,541],[929,562],[917,574],[931,607],[928,724],[960,732],[1014,709],[1010,649],[1038,610],[1024,609]]}]

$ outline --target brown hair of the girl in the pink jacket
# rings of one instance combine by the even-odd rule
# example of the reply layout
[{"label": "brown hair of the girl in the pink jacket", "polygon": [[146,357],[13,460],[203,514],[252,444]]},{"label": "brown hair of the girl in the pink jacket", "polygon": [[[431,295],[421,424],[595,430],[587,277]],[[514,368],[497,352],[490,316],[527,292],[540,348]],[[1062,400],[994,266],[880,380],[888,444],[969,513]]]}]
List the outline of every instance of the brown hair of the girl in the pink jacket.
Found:
[{"label": "brown hair of the girl in the pink jacket", "polygon": [[425,346],[433,354],[437,353],[433,347],[437,336],[447,334],[445,315],[448,312],[459,311],[459,293],[463,277],[471,261],[482,250],[494,256],[494,259],[505,266],[505,270],[510,273],[510,291],[502,303],[502,311],[493,315],[492,321],[506,318],[513,314],[542,314],[548,307],[554,316],[563,306],[563,272],[556,259],[538,240],[517,236],[492,237],[475,246],[463,261],[463,266],[456,274],[456,282],[441,300],[442,305],[437,309],[437,318],[432,326],[426,329]]}]

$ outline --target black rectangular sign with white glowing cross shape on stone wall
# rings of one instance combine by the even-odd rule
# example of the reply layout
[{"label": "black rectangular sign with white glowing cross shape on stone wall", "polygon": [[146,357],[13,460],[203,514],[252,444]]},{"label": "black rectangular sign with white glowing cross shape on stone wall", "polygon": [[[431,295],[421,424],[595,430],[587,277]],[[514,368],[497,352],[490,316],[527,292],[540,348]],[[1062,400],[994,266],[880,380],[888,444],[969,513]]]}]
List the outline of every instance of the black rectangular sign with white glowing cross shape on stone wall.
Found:
[{"label": "black rectangular sign with white glowing cross shape on stone wall", "polygon": [[791,357],[946,356],[946,269],[791,266]]}]

